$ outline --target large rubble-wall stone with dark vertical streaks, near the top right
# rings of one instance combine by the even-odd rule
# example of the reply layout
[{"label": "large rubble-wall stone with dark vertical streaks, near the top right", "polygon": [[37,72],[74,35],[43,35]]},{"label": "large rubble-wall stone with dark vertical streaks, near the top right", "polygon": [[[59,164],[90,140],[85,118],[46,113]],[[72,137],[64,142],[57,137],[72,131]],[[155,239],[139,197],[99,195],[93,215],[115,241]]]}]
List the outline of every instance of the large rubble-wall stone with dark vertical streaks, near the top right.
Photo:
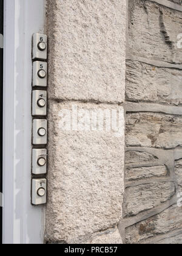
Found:
[{"label": "large rubble-wall stone with dark vertical streaks, near the top right", "polygon": [[129,1],[129,54],[181,63],[182,13],[150,1]]}]

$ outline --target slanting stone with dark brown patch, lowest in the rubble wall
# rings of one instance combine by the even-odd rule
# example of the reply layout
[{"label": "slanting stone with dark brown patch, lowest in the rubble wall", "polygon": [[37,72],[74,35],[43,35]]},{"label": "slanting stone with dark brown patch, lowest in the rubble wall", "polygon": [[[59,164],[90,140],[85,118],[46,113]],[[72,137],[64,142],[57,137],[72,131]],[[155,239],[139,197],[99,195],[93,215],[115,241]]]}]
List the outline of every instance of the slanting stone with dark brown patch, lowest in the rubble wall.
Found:
[{"label": "slanting stone with dark brown patch, lowest in the rubble wall", "polygon": [[147,243],[147,238],[180,230],[182,228],[182,207],[173,205],[164,212],[145,221],[138,222],[126,229],[126,242],[128,244]]}]

